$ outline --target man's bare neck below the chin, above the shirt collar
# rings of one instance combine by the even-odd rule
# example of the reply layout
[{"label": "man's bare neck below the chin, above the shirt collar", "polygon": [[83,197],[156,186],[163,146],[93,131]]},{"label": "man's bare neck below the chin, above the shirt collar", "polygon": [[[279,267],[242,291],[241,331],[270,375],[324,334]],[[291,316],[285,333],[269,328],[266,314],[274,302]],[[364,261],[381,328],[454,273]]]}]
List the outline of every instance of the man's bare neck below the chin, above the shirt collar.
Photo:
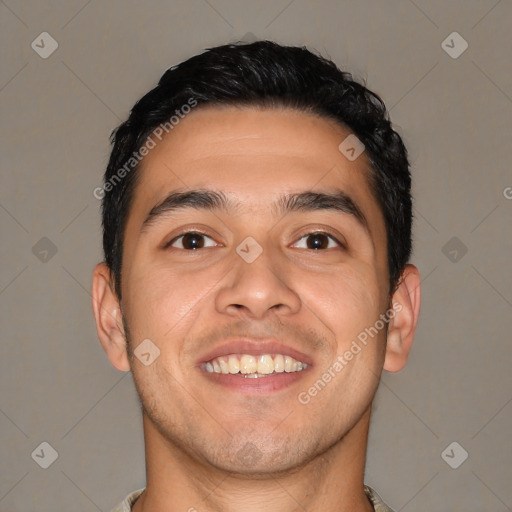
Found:
[{"label": "man's bare neck below the chin, above the shirt collar", "polygon": [[364,466],[371,406],[328,450],[286,472],[229,473],[199,462],[170,443],[143,415],[146,490],[134,512],[370,512],[364,494]]}]

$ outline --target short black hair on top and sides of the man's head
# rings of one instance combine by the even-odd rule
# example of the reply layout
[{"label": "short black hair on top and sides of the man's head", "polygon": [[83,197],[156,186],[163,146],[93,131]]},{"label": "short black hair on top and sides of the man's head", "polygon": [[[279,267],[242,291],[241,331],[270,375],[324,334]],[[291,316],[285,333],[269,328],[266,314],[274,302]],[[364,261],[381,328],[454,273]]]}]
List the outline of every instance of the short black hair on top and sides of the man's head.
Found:
[{"label": "short black hair on top and sides of the man's head", "polygon": [[139,151],[148,136],[162,124],[170,126],[185,105],[189,110],[188,105],[288,107],[334,119],[355,134],[365,146],[369,183],[386,225],[390,294],[394,291],[411,254],[411,175],[407,150],[383,101],[350,73],[305,47],[257,41],[209,48],[169,68],[112,132],[101,197],[103,251],[119,300],[124,231],[140,174]]}]

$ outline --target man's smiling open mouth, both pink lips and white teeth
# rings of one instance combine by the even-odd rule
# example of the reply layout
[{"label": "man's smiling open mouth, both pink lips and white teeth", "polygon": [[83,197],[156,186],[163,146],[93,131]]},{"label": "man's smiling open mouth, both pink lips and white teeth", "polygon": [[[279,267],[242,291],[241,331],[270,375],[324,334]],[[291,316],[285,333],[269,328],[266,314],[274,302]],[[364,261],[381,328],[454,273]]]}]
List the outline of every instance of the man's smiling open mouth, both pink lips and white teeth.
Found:
[{"label": "man's smiling open mouth, both pink lips and white teeth", "polygon": [[277,342],[236,341],[198,361],[210,382],[245,395],[282,390],[313,366],[309,356]]}]

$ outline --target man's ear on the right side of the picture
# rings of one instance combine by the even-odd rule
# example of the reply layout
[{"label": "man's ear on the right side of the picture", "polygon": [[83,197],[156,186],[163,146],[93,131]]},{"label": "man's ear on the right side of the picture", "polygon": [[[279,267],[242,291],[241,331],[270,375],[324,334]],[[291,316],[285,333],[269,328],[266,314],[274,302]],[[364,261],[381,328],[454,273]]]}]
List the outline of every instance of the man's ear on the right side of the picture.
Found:
[{"label": "man's ear on the right side of the picture", "polygon": [[395,316],[389,322],[387,333],[384,370],[388,372],[399,372],[407,363],[420,313],[420,283],[418,269],[406,265],[391,297]]}]

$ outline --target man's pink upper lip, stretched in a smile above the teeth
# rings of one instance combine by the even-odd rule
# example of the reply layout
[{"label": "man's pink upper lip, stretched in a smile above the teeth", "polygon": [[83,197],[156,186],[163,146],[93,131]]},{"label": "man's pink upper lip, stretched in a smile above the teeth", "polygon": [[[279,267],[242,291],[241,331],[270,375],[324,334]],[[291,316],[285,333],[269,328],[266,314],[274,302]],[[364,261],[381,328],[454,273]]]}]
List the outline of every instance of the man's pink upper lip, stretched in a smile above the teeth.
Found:
[{"label": "man's pink upper lip, stretched in a smile above the teeth", "polygon": [[313,366],[311,357],[295,348],[284,345],[277,340],[254,340],[248,338],[237,338],[236,340],[219,345],[218,347],[212,349],[210,352],[201,356],[196,361],[196,365],[201,366],[203,363],[211,361],[216,357],[227,356],[230,354],[248,354],[251,356],[260,356],[263,354],[282,354],[283,356],[290,356],[297,361],[306,363],[308,368]]}]

